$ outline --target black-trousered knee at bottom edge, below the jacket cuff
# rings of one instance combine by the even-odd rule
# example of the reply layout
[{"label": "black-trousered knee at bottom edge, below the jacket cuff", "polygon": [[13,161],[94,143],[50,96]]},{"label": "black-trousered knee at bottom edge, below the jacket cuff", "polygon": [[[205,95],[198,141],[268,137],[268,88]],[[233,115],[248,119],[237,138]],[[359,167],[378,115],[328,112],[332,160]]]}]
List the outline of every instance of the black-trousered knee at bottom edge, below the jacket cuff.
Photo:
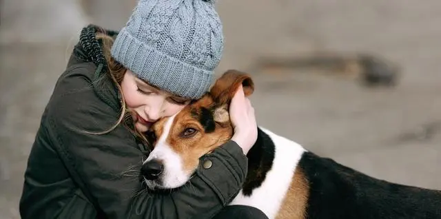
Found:
[{"label": "black-trousered knee at bottom edge, below the jacket cuff", "polygon": [[229,205],[224,207],[213,219],[269,219],[265,213],[255,207]]}]

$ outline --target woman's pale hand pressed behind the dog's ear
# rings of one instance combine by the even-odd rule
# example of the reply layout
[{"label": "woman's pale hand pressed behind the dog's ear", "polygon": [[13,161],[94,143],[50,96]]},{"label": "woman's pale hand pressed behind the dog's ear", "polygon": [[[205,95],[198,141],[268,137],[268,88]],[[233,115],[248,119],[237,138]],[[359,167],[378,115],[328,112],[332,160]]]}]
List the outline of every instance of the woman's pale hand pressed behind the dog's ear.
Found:
[{"label": "woman's pale hand pressed behind the dog's ear", "polygon": [[232,140],[247,154],[257,140],[257,124],[254,108],[240,85],[229,105],[229,118],[234,127]]}]

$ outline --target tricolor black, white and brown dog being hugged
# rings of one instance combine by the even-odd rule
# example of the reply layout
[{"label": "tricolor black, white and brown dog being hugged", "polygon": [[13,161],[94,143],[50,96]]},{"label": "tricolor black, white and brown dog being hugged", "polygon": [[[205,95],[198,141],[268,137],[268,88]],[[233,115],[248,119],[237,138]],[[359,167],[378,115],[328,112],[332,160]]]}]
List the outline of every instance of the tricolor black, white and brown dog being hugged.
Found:
[{"label": "tricolor black, white and brown dog being hugged", "polygon": [[[150,189],[181,187],[198,158],[232,138],[227,110],[240,84],[246,95],[254,91],[247,74],[229,70],[203,98],[155,123],[143,163],[156,171],[145,177]],[[251,205],[269,218],[441,218],[441,191],[372,178],[262,127],[247,157],[243,189],[230,205]]]}]

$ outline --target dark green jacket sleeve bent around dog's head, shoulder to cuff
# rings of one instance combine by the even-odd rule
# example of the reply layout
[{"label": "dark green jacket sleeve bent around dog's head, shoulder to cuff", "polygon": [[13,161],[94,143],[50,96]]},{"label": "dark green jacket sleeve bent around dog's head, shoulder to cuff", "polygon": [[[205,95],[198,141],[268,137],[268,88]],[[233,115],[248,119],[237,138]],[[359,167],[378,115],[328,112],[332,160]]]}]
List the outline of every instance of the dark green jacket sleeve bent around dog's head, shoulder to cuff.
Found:
[{"label": "dark green jacket sleeve bent around dog's head, shoulder to cuff", "polygon": [[[81,76],[59,81],[48,105],[47,129],[76,183],[87,189],[108,218],[211,218],[232,200],[247,174],[247,158],[234,141],[201,158],[194,177],[168,194],[141,189],[143,154],[130,132],[112,127],[119,113],[103,103]],[[64,81],[64,82],[63,82]],[[77,89],[83,87],[84,89]]]}]

